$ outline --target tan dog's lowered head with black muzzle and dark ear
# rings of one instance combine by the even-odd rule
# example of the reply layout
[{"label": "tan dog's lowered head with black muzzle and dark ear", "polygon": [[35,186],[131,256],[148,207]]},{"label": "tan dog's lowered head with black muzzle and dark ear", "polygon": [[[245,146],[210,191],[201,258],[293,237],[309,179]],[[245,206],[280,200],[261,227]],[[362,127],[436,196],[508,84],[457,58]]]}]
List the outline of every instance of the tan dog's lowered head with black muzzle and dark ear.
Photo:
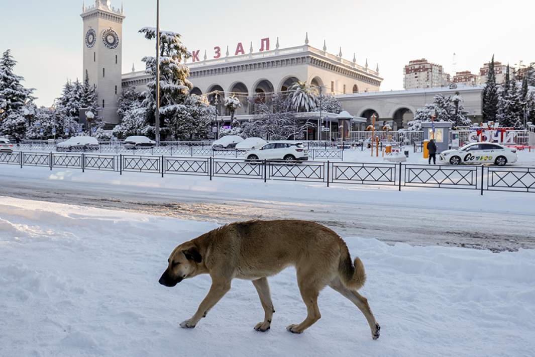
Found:
[{"label": "tan dog's lowered head with black muzzle and dark ear", "polygon": [[158,280],[162,285],[173,287],[182,279],[193,277],[197,272],[197,264],[202,262],[202,256],[197,247],[191,242],[181,244],[173,250],[167,260],[167,269]]}]

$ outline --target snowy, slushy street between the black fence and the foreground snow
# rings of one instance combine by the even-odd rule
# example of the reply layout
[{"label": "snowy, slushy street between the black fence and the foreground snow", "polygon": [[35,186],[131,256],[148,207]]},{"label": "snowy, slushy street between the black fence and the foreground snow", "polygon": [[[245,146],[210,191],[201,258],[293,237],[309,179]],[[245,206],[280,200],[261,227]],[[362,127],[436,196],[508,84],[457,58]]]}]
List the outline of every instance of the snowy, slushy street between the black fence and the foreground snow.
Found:
[{"label": "snowy, slushy street between the black fence and the foreground snow", "polygon": [[227,223],[310,219],[342,236],[413,245],[535,248],[534,197],[448,189],[331,187],[246,179],[0,168],[0,194]]}]

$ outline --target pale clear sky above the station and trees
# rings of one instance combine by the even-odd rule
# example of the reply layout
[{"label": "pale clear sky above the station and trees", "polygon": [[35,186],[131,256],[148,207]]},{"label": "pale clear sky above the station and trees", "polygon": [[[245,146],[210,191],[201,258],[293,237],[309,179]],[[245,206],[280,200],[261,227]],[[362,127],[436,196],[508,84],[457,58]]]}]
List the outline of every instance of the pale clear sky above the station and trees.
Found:
[{"label": "pale clear sky above the station and trees", "polygon": [[[86,4],[93,1],[86,0]],[[120,0],[112,0],[120,7]],[[255,51],[260,39],[279,37],[281,48],[304,44],[353,59],[385,80],[381,90],[403,89],[403,67],[427,58],[448,73],[477,73],[495,54],[502,63],[535,62],[535,2],[489,0],[160,0],[161,27],[182,35],[189,50],[208,50],[238,42]],[[123,72],[143,70],[143,56],[154,44],[137,31],[155,26],[156,0],[124,0]],[[82,0],[0,0],[0,51],[12,50],[15,72],[36,88],[37,104],[51,105],[68,79],[82,79]],[[454,66],[453,54],[456,53]],[[202,58],[202,57],[201,57]]]}]

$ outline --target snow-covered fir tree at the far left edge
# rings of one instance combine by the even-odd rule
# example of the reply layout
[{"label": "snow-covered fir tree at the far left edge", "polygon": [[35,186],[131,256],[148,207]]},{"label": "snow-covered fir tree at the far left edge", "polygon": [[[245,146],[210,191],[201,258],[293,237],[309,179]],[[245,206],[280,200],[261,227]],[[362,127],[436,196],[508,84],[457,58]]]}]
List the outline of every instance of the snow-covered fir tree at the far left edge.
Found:
[{"label": "snow-covered fir tree at the far left edge", "polygon": [[24,87],[23,77],[13,72],[17,61],[6,50],[0,59],[0,133],[22,139],[26,132],[25,108],[33,105],[35,89]]}]

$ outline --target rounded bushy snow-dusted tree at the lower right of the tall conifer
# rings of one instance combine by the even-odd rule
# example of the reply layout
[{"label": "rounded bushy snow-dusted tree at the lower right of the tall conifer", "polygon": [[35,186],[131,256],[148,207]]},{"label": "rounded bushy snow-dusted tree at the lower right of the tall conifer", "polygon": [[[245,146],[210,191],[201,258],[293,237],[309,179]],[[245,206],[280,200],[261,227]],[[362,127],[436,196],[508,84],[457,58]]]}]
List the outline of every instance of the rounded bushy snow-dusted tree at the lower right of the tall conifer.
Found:
[{"label": "rounded bushy snow-dusted tree at the lower right of the tall conifer", "polygon": [[172,138],[192,140],[208,134],[215,107],[204,96],[188,95],[181,104],[167,105],[162,115]]}]

